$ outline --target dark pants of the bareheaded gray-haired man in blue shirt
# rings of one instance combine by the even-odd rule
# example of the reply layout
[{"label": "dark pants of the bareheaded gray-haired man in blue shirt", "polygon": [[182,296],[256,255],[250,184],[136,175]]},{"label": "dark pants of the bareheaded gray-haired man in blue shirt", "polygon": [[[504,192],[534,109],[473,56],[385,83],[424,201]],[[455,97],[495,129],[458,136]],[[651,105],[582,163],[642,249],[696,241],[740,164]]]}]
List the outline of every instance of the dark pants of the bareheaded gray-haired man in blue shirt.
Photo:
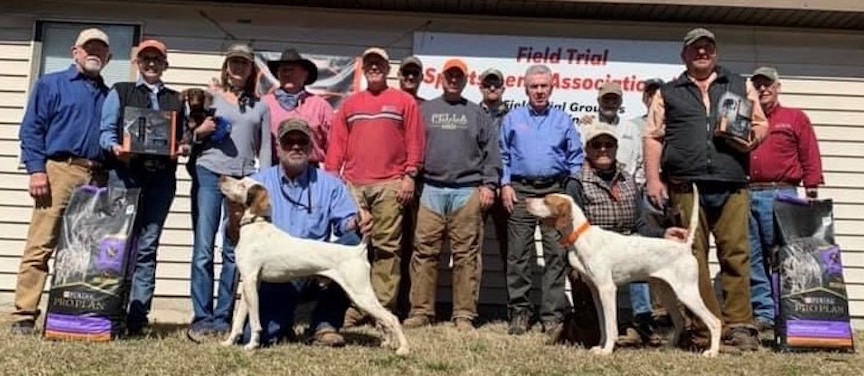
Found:
[{"label": "dark pants of the bareheaded gray-haired man in blue shirt", "polygon": [[[536,260],[534,229],[537,227],[537,217],[528,213],[525,199],[563,191],[560,184],[534,187],[514,182],[512,187],[516,190],[518,202],[507,219],[507,308],[511,317],[531,312],[529,292],[533,284],[532,266]],[[564,292],[566,252],[559,244],[561,234],[557,230],[544,227],[542,234],[546,266],[541,282],[540,320],[561,322],[569,307]]]}]

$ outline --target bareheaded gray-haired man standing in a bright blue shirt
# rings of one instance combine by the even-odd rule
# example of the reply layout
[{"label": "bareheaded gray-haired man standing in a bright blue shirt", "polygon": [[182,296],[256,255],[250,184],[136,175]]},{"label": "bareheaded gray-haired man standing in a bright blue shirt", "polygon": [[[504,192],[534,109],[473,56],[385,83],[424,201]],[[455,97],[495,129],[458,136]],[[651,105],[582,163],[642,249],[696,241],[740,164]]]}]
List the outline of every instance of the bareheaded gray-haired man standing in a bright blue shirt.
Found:
[{"label": "bareheaded gray-haired man standing in a bright blue shirt", "polygon": [[[534,229],[537,217],[525,209],[525,199],[563,192],[570,178],[582,171],[584,153],[579,132],[570,116],[552,108],[552,71],[534,65],[525,72],[529,105],[510,111],[501,124],[501,198],[510,216],[507,220],[507,308],[511,335],[528,331],[531,318],[531,263],[534,260]],[[543,229],[540,320],[553,338],[560,331],[568,307],[564,293],[565,250],[561,235]]]}]

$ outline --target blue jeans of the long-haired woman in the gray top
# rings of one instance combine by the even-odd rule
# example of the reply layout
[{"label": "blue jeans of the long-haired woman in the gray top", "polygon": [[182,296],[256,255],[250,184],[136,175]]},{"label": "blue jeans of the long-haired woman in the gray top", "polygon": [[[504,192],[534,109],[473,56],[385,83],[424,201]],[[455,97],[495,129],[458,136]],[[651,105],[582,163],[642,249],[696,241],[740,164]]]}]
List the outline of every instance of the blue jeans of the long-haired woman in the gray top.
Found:
[{"label": "blue jeans of the long-haired woman in the gray top", "polygon": [[219,174],[196,166],[196,201],[193,226],[195,241],[192,249],[191,295],[192,328],[196,330],[228,331],[234,314],[237,292],[237,266],[234,264],[234,244],[223,233],[222,274],[219,276],[216,308],[213,308],[213,249],[220,222],[228,221],[228,201],[219,191]]}]

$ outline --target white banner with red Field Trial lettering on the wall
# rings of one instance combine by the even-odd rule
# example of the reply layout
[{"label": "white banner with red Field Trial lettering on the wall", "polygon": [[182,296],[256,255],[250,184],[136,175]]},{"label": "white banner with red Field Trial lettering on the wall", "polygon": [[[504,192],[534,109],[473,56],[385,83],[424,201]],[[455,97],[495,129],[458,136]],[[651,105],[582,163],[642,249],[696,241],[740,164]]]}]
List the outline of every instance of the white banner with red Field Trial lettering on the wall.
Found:
[{"label": "white banner with red Field Trial lettering on the wall", "polygon": [[423,62],[420,96],[441,95],[441,67],[459,58],[468,65],[464,96],[479,102],[480,74],[488,68],[504,75],[504,100],[508,107],[527,105],[525,70],[545,64],[553,73],[552,102],[574,119],[597,113],[597,90],[606,81],[618,81],[624,91],[622,118],[645,114],[644,81],[669,81],[684,71],[681,42],[604,39],[537,38],[418,32],[414,54]]}]

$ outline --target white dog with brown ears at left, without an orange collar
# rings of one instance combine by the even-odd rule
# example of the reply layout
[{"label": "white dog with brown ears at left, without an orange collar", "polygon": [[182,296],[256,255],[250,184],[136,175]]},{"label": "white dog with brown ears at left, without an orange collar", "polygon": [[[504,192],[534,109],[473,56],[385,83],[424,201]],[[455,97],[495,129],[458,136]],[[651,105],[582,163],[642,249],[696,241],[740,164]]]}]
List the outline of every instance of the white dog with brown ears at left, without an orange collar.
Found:
[{"label": "white dog with brown ears at left, without an orange collar", "polygon": [[246,207],[240,220],[240,241],[234,251],[242,279],[242,296],[231,334],[223,345],[236,343],[248,313],[252,338],[245,348],[251,350],[259,346],[262,329],[258,311],[259,282],[280,283],[323,276],[339,284],[357,307],[378,320],[385,331],[382,346],[395,347],[399,355],[408,354],[408,341],[399,319],[381,306],[372,290],[366,244],[345,246],[300,239],[277,229],[269,222],[267,189],[251,178],[222,177],[219,188],[229,200]]}]

